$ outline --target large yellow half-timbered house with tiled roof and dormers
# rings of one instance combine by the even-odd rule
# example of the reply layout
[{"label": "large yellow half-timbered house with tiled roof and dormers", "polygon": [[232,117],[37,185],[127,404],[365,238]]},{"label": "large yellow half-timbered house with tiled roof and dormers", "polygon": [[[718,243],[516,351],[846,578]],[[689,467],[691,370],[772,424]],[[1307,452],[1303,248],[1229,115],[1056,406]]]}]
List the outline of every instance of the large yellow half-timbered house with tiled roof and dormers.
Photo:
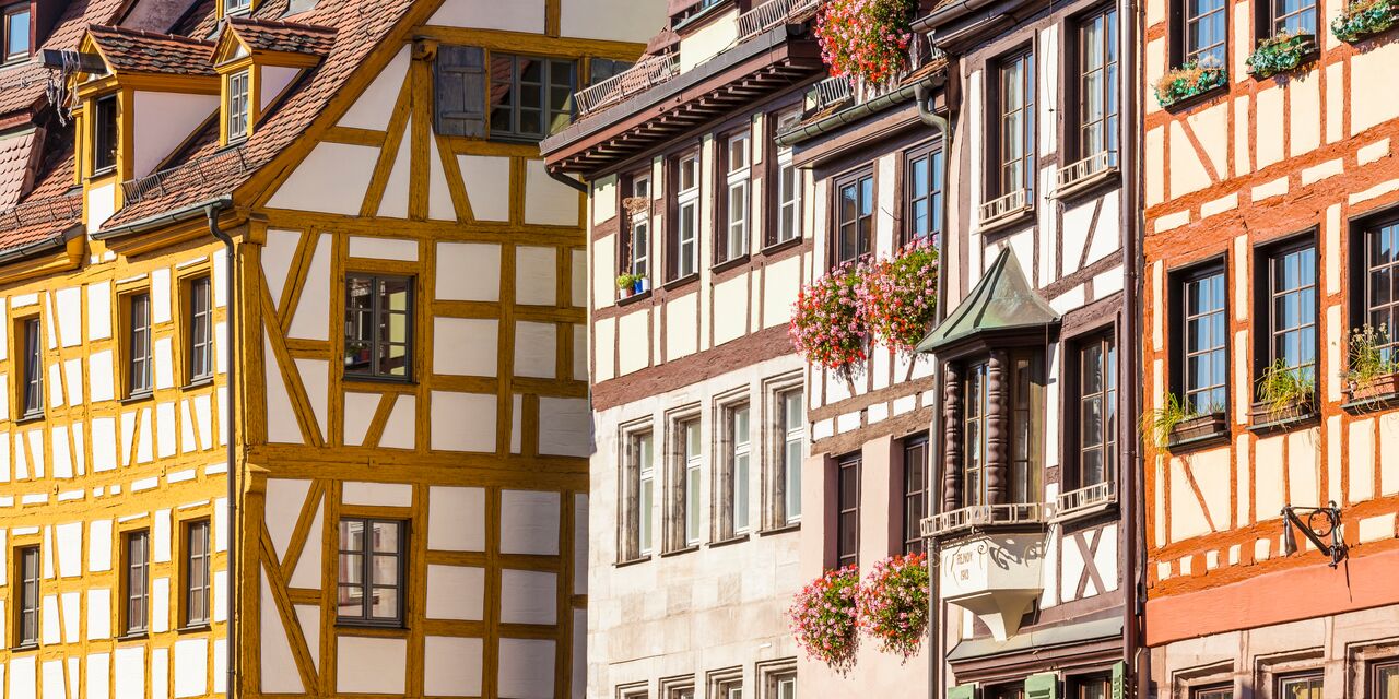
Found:
[{"label": "large yellow half-timbered house with tiled roof and dormers", "polygon": [[180,4],[35,3],[0,67],[0,696],[583,696],[537,141],[663,10]]}]

